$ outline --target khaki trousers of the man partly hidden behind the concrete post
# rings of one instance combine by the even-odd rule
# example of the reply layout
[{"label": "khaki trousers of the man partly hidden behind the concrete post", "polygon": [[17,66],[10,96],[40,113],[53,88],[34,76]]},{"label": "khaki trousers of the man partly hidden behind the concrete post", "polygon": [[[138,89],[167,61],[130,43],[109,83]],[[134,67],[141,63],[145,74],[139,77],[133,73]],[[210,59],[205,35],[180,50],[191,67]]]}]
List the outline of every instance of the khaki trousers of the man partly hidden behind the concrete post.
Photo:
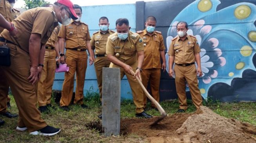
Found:
[{"label": "khaki trousers of the man partly hidden behind the concrete post", "polygon": [[96,57],[94,62],[94,68],[97,76],[98,87],[100,90],[100,101],[102,101],[102,68],[109,67],[110,61],[107,57]]}]

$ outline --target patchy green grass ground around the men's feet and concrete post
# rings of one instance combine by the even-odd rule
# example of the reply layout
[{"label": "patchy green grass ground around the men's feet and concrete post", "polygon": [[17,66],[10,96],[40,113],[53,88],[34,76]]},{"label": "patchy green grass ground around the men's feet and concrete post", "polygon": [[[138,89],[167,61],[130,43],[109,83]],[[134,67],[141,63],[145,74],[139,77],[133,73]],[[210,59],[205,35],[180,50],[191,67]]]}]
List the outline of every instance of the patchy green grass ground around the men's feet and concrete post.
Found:
[{"label": "patchy green grass ground around the men's feet and concrete post", "polygon": [[[11,95],[12,108],[11,113],[18,113],[18,109]],[[221,103],[218,101],[204,102],[203,105],[208,106],[215,113],[227,118],[234,118],[242,122],[249,122],[256,125],[256,103]],[[60,134],[52,137],[32,136],[27,131],[16,131],[18,118],[5,118],[5,125],[0,127],[0,143],[120,143],[145,142],[143,137],[136,134],[128,134],[125,136],[104,137],[96,129],[89,129],[87,125],[92,122],[101,122],[98,115],[101,113],[101,105],[98,93],[87,93],[84,102],[89,106],[89,109],[82,109],[79,105],[70,105],[70,111],[62,111],[54,101],[53,106],[56,109],[50,108],[49,114],[42,114],[42,118],[51,126],[59,127],[62,131]],[[114,102],[114,100],[113,100]],[[168,100],[160,103],[167,114],[175,113],[179,108],[178,100]],[[187,113],[196,111],[196,107],[188,100]],[[133,100],[122,100],[121,103],[121,118],[135,118],[135,105]],[[151,109],[151,102],[147,103],[146,112],[154,116],[160,116],[160,113]]]}]

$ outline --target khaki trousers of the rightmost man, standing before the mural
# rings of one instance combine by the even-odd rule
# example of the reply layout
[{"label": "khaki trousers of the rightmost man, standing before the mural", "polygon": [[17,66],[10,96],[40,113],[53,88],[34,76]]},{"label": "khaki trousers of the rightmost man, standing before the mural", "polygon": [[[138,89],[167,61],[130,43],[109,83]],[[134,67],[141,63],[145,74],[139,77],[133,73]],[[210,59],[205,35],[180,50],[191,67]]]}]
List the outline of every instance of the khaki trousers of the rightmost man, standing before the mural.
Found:
[{"label": "khaki trousers of the rightmost man, standing before the mural", "polygon": [[198,80],[196,75],[196,66],[174,66],[175,71],[175,84],[176,84],[176,91],[178,94],[179,102],[180,102],[180,109],[187,110],[187,96],[186,96],[186,85],[185,81],[189,84],[189,90],[192,97],[192,102],[199,108],[202,105],[202,97],[200,90],[198,88]]}]

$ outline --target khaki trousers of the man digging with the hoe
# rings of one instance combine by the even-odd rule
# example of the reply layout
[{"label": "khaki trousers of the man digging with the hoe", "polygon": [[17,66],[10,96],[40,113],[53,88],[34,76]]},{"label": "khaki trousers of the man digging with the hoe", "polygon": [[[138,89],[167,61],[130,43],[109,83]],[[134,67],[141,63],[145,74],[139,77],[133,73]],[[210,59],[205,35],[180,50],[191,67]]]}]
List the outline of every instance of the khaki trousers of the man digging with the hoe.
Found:
[{"label": "khaki trousers of the man digging with the hoe", "polygon": [[[138,67],[138,63],[134,63],[133,65],[130,65],[133,68],[133,71],[136,71],[136,68]],[[126,75],[128,82],[131,86],[132,93],[133,93],[133,102],[136,106],[136,113],[142,113],[144,111],[143,109],[143,90],[137,80],[133,78],[133,75],[130,75],[129,73],[126,73],[123,68],[120,66],[117,66],[113,64],[113,68],[120,68],[120,77],[123,78],[124,75]]]}]

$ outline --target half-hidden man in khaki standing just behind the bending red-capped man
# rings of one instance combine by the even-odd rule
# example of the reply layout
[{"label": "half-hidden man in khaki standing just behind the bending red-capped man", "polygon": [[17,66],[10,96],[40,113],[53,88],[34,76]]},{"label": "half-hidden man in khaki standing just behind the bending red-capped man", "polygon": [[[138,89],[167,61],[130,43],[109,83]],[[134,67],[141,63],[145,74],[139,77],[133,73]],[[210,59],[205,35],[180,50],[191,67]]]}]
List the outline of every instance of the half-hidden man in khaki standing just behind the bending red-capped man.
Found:
[{"label": "half-hidden man in khaki standing just behind the bending red-capped man", "polygon": [[[47,4],[44,7],[52,6],[52,4]],[[37,101],[39,105],[38,109],[41,113],[48,113],[48,107],[52,107],[51,93],[55,75],[56,60],[57,62],[60,60],[60,53],[58,48],[58,27],[59,25],[53,30],[51,37],[47,40],[47,43],[44,47],[44,68],[41,73],[41,78],[38,81],[37,89]]]}]

